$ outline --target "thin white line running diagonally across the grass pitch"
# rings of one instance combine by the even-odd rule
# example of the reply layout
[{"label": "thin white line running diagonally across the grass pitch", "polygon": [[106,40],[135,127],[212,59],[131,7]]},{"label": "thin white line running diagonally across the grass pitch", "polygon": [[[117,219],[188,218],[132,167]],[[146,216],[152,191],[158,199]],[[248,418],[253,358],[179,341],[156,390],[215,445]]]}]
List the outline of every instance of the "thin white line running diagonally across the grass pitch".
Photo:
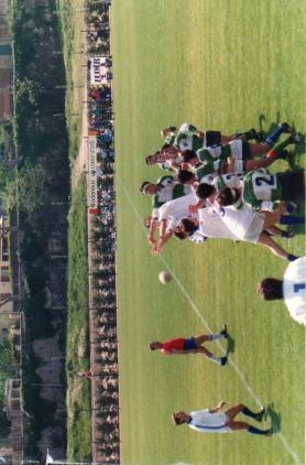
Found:
[{"label": "thin white line running diagonally across the grass pitch", "polygon": [[[142,225],[142,228],[144,231],[146,231],[144,225],[143,225],[143,219],[140,215],[140,213],[138,212],[132,197],[130,196],[130,194],[128,193],[128,191],[125,190],[122,181],[120,180],[119,176],[117,176],[117,181],[120,185],[120,187],[122,188],[129,204],[131,205],[132,210],[134,212],[135,216],[138,217],[139,221]],[[187,300],[187,302],[189,303],[190,307],[193,309],[193,311],[195,312],[195,314],[198,316],[198,318],[201,321],[201,323],[204,324],[204,326],[206,327],[206,329],[212,334],[212,329],[210,328],[208,322],[206,321],[206,318],[203,316],[203,314],[200,313],[200,311],[198,310],[198,307],[195,305],[195,303],[193,302],[190,295],[188,294],[188,292],[185,290],[185,288],[183,286],[183,284],[181,283],[179,279],[177,278],[177,275],[175,274],[175,272],[171,269],[171,267],[168,266],[168,263],[166,262],[166,260],[164,259],[164,257],[162,255],[159,256],[160,260],[163,262],[164,267],[167,268],[167,270],[172,273],[176,284],[178,285],[178,288],[181,289],[182,293],[184,294],[185,299]],[[222,350],[222,346],[219,343],[219,340],[217,339],[215,343],[218,344],[219,348]],[[306,342],[305,342],[305,350],[306,350]],[[306,356],[306,354],[305,354]],[[239,369],[239,367],[236,365],[236,363],[229,358],[228,363],[233,367],[233,369],[236,370],[237,375],[239,376],[242,385],[244,386],[245,390],[250,393],[250,396],[253,398],[253,400],[255,401],[255,403],[258,404],[258,407],[262,405],[261,400],[259,399],[259,397],[255,394],[255,392],[253,391],[253,389],[251,388],[251,386],[248,383],[248,381],[244,378],[244,375],[242,374],[242,371]],[[305,387],[306,389],[306,387]],[[306,396],[306,393],[305,393]],[[305,417],[306,419],[306,417]],[[306,424],[305,424],[306,428]],[[283,443],[285,450],[287,451],[287,453],[292,456],[292,458],[295,461],[295,463],[297,465],[303,465],[303,463],[300,462],[298,455],[296,454],[296,452],[294,451],[294,448],[289,445],[288,441],[285,439],[285,436],[277,432],[277,434],[275,434],[275,437],[278,437],[281,440],[281,442]],[[306,461],[305,461],[306,464]]]}]

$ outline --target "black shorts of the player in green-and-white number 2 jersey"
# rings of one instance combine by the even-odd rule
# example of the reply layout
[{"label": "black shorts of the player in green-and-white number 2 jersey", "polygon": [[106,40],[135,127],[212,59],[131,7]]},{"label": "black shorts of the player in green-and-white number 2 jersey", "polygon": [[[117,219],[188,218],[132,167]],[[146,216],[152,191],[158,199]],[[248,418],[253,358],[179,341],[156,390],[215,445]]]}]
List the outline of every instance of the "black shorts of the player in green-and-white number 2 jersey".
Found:
[{"label": "black shorts of the player in green-and-white number 2 jersey", "polygon": [[281,183],[283,199],[297,204],[305,202],[305,171],[295,170],[286,173],[277,173]]}]

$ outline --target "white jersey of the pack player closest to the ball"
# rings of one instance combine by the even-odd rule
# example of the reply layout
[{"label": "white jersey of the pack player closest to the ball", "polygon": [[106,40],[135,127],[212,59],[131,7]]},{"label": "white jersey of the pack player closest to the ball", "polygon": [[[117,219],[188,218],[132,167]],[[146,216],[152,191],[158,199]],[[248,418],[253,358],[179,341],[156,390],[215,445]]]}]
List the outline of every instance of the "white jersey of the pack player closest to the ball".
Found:
[{"label": "white jersey of the pack player closest to the ball", "polygon": [[203,236],[215,239],[239,240],[232,230],[230,230],[222,218],[216,214],[212,208],[201,208],[198,210],[199,231]]}]

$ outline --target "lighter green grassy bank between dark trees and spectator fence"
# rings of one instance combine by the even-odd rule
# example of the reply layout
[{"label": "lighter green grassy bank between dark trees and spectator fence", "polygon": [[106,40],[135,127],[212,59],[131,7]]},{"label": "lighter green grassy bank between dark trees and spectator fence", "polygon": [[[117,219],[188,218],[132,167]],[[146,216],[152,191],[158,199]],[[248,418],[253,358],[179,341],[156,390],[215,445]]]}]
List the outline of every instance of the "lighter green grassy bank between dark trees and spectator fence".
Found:
[{"label": "lighter green grassy bank between dark trees and spectator fence", "polygon": [[[89,459],[91,454],[90,387],[76,372],[89,367],[88,256],[85,177],[73,193],[68,236],[68,315],[66,335],[67,457]],[[88,411],[86,410],[88,409]],[[77,418],[79,417],[79,418]]]}]

